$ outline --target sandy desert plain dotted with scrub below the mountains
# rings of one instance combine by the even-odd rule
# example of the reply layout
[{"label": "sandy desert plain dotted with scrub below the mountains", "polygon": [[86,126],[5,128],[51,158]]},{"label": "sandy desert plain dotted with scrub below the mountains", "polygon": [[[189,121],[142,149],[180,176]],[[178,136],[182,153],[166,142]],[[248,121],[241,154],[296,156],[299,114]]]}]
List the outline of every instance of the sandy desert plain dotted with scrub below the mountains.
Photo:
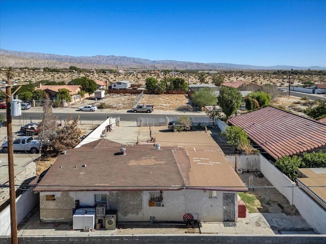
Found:
[{"label": "sandy desert plain dotted with scrub below the mountains", "polygon": [[[6,69],[0,69],[0,79],[6,81]],[[289,82],[288,74],[274,74],[273,71],[221,71],[216,74],[224,76],[224,82],[233,82],[237,80],[252,82],[257,84],[275,84],[279,87],[287,87]],[[212,77],[215,74],[208,74],[205,83],[212,83]],[[179,73],[179,74],[163,74],[158,71],[143,71],[136,73],[103,73],[100,70],[92,70],[90,72],[78,73],[78,77],[86,76],[92,80],[99,80],[112,84],[116,81],[127,80],[133,85],[145,85],[145,79],[147,77],[154,77],[157,80],[162,80],[165,77],[179,77],[183,78],[189,84],[199,84],[198,72]],[[33,71],[33,70],[14,70],[13,81],[25,82],[26,80],[38,83],[43,80],[48,81],[65,81],[68,83],[72,79],[76,79],[77,74],[75,72],[45,72],[45,71]],[[291,85],[300,86],[303,82],[311,81],[314,83],[326,82],[326,75],[294,75],[291,77]]]}]

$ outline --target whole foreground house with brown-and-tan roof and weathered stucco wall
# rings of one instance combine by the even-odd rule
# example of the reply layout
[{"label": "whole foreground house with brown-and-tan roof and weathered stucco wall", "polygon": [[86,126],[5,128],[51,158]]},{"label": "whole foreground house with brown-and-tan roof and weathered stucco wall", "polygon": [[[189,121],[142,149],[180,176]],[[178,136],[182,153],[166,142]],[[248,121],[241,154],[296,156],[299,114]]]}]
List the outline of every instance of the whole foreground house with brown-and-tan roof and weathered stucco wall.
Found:
[{"label": "whole foreground house with brown-and-tan roof and weathered stucco wall", "polygon": [[221,148],[202,131],[164,134],[160,149],[102,138],[67,150],[35,188],[41,221],[70,222],[76,204],[98,203],[116,209],[121,222],[183,221],[186,213],[236,221],[237,192],[248,189]]}]

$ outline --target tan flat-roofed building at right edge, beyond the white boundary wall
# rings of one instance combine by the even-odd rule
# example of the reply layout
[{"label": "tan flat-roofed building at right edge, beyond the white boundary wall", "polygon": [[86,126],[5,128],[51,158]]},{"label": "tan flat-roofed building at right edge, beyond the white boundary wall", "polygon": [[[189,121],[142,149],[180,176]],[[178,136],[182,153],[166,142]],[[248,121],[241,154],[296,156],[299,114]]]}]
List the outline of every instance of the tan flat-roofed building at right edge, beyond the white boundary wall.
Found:
[{"label": "tan flat-roofed building at right edge, beyond the white boundary wall", "polygon": [[326,169],[298,169],[297,186],[326,210]]}]

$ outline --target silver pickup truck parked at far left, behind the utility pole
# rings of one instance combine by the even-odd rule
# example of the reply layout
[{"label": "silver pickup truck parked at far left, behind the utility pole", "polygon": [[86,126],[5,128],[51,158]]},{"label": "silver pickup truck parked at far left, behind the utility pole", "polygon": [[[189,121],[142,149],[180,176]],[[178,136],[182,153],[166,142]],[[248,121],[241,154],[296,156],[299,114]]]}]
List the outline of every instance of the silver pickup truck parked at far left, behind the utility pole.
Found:
[{"label": "silver pickup truck parked at far left, behind the utility pole", "polygon": [[[4,153],[8,153],[8,141],[2,144]],[[36,154],[40,150],[40,141],[34,140],[32,136],[21,136],[13,141],[14,151],[31,151]]]}]

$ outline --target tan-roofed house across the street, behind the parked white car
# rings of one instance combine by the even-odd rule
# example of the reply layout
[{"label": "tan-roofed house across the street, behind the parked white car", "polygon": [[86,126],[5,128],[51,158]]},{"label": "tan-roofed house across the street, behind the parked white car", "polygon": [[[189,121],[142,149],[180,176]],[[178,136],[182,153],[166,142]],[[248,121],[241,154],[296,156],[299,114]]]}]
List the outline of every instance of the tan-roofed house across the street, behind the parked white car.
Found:
[{"label": "tan-roofed house across the street, behind the parked white car", "polygon": [[[62,89],[62,88],[69,90],[69,94],[71,96],[70,104],[81,101],[81,99],[83,99],[78,95],[78,92],[82,89],[82,86],[80,86],[80,85],[42,85],[42,84],[40,84],[39,87],[36,89],[44,90],[44,92],[46,92],[49,95],[49,99],[53,100],[53,99],[56,99],[57,94],[59,93],[59,89]],[[85,96],[85,97],[87,97],[87,96]]]}]

